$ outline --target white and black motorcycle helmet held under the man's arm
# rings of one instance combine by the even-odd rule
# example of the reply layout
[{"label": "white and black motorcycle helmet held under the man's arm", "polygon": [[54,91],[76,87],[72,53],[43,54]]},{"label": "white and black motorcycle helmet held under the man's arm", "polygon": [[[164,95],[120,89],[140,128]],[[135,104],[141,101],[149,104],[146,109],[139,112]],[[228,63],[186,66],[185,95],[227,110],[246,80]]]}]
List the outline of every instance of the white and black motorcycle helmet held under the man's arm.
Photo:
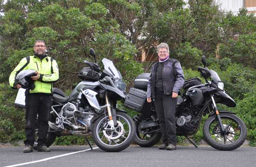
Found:
[{"label": "white and black motorcycle helmet held under the man's arm", "polygon": [[34,70],[23,70],[15,77],[15,81],[20,84],[22,88],[33,90],[35,85],[31,77],[36,75],[36,71]]}]

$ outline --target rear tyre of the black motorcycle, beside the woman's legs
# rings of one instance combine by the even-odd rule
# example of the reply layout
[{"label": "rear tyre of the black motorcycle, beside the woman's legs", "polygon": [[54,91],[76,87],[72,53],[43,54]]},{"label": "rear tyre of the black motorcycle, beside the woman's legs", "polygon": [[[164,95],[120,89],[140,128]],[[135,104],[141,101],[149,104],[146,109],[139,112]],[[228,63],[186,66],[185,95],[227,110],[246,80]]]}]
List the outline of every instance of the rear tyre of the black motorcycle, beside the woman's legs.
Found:
[{"label": "rear tyre of the black motorcycle, beside the woman's legs", "polygon": [[149,139],[141,139],[141,135],[140,132],[138,130],[138,126],[139,126],[140,122],[135,122],[136,125],[136,134],[135,134],[135,143],[141,147],[152,147],[154,146],[157,142],[160,141],[162,134],[161,132],[153,132],[152,134],[150,134],[150,138]]}]

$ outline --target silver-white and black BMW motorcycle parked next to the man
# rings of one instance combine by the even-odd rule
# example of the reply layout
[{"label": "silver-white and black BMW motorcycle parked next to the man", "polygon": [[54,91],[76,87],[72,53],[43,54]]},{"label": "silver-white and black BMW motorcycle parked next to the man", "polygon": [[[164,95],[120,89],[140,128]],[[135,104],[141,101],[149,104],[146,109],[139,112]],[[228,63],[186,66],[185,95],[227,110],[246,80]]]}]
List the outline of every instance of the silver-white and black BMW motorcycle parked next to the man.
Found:
[{"label": "silver-white and black BMW motorcycle parked next to the man", "polygon": [[[95,60],[93,49],[90,54]],[[78,75],[83,81],[69,96],[60,89],[53,90],[47,147],[57,136],[78,135],[87,140],[87,136],[92,135],[95,144],[104,151],[124,150],[135,137],[134,121],[116,105],[126,97],[126,84],[111,60],[102,59],[105,69],[102,72],[97,64],[84,63],[89,67],[83,68]]]}]

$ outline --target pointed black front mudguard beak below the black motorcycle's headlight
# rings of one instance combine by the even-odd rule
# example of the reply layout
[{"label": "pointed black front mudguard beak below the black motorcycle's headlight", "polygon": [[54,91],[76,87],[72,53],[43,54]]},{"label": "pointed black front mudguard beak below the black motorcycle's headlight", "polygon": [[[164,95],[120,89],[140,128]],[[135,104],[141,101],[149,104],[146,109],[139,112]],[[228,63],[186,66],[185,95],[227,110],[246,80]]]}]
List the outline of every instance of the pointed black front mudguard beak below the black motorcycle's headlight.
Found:
[{"label": "pointed black front mudguard beak below the black motorcycle's headlight", "polygon": [[236,102],[227,93],[218,91],[215,95],[216,103],[225,104],[228,107],[236,107]]}]

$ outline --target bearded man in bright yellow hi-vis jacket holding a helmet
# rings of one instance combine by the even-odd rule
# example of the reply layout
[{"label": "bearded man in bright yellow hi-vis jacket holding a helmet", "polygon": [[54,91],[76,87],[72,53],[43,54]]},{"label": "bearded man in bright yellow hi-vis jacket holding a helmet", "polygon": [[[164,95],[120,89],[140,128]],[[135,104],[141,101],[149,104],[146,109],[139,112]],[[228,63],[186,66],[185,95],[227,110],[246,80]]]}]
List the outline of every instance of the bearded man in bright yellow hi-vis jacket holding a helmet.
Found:
[{"label": "bearded man in bright yellow hi-vis jacket holding a helmet", "polygon": [[52,106],[53,83],[59,79],[59,69],[57,62],[48,57],[46,45],[43,40],[36,40],[34,43],[34,56],[23,58],[9,77],[10,86],[13,89],[20,89],[21,85],[15,81],[15,76],[22,70],[35,70],[37,75],[31,77],[34,80],[35,88],[26,90],[26,140],[23,153],[33,151],[35,120],[38,115],[38,147],[37,151],[49,152],[46,146],[48,132],[49,112]]}]

